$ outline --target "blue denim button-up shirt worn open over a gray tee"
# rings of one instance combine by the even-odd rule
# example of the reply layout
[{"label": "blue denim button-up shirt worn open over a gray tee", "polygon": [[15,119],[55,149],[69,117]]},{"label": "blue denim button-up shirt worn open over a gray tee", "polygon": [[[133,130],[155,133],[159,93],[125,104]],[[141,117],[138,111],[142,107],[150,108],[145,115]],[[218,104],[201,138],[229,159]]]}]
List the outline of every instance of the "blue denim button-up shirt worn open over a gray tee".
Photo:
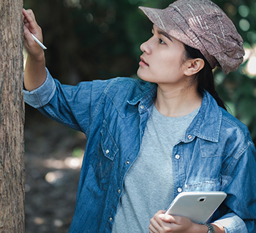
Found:
[{"label": "blue denim button-up shirt worn open over a gray tee", "polygon": [[[69,232],[110,233],[157,85],[127,77],[61,85],[48,72],[42,86],[23,92],[28,104],[87,137]],[[225,202],[209,222],[222,224],[225,232],[256,232],[255,157],[246,126],[205,91],[198,114],[173,148],[174,197],[182,191],[225,191]]]}]

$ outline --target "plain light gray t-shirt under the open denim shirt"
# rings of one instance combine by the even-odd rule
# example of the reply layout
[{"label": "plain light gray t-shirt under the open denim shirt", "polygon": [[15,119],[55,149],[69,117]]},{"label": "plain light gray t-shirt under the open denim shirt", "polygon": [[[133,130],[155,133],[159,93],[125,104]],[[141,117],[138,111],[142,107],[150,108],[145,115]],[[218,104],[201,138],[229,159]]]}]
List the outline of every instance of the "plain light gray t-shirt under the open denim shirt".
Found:
[{"label": "plain light gray t-shirt under the open denim shirt", "polygon": [[198,111],[168,118],[152,107],[140,153],[124,177],[112,233],[148,232],[150,218],[173,201],[173,146],[184,137]]}]

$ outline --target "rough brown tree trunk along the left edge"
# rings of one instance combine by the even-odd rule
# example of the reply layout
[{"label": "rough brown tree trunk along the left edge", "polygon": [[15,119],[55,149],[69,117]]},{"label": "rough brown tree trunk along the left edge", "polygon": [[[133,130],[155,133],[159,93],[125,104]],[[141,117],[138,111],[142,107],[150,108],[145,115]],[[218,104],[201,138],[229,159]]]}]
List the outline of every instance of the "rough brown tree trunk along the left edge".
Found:
[{"label": "rough brown tree trunk along the left edge", "polygon": [[22,0],[0,0],[0,232],[25,232]]}]

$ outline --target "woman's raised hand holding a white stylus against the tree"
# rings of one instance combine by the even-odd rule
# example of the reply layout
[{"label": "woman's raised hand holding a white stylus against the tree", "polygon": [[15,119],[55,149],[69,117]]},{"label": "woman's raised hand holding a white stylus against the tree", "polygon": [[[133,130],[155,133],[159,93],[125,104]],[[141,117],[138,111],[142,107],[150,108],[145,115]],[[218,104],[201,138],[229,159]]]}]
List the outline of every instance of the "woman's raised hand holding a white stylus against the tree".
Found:
[{"label": "woman's raised hand holding a white stylus against the tree", "polygon": [[29,56],[34,58],[42,58],[44,56],[42,48],[34,41],[31,34],[34,34],[40,42],[42,42],[42,29],[38,26],[31,9],[23,9],[24,23],[24,46]]}]

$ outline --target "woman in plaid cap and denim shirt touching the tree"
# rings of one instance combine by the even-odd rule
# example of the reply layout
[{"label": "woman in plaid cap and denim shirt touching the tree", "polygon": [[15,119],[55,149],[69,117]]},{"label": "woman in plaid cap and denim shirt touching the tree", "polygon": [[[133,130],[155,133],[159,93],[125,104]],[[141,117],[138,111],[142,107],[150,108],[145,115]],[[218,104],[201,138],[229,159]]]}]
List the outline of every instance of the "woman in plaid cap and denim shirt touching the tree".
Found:
[{"label": "woman in plaid cap and denim shirt touching the tree", "polygon": [[[42,32],[23,11],[29,56],[24,99],[87,137],[69,232],[255,232],[255,146],[214,89],[212,69],[236,70],[235,26],[208,0],[140,7],[154,23],[138,76],[72,87],[45,69]],[[219,104],[219,105],[218,105]],[[165,215],[182,191],[225,191],[208,224]],[[196,213],[195,213],[196,214]]]}]

